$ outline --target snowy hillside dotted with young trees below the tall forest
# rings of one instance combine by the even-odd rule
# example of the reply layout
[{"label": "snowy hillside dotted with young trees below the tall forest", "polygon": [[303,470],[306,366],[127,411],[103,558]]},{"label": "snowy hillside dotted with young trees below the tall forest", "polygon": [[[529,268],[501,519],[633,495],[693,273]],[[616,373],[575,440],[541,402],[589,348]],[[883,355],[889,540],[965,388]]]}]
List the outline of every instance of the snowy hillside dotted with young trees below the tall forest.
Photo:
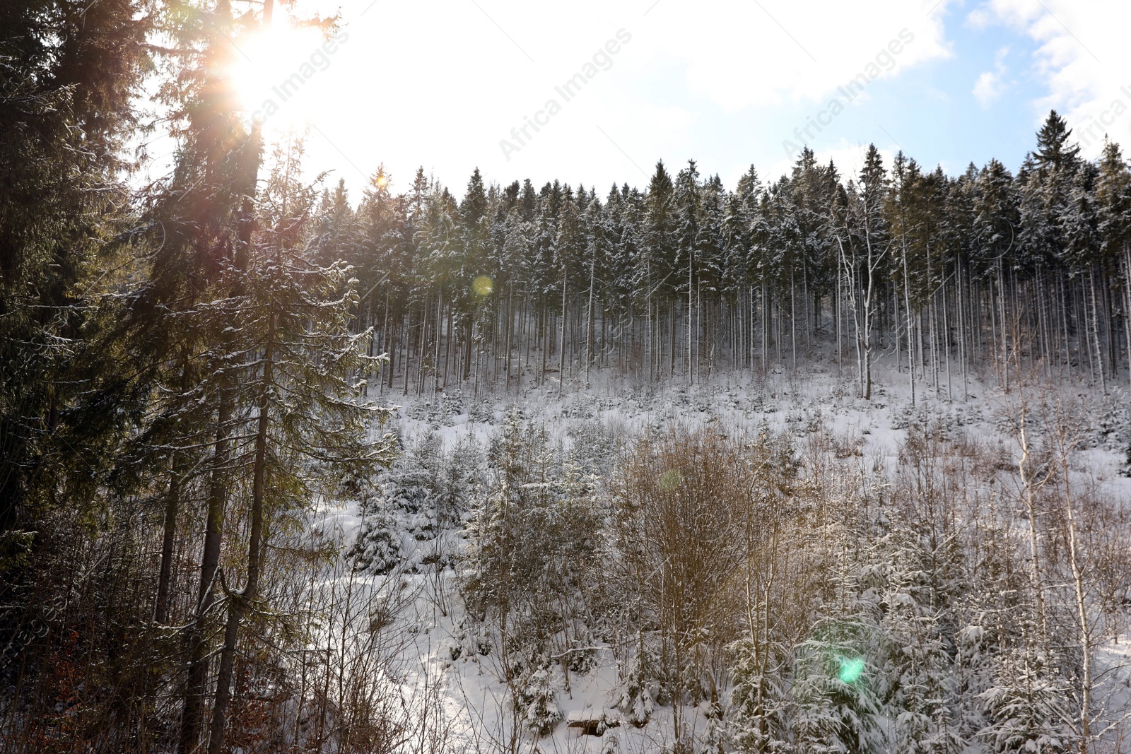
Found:
[{"label": "snowy hillside dotted with young trees below the tall forest", "polygon": [[[1034,657],[1042,651],[1024,648],[1027,641],[1035,641],[1024,639],[1027,631],[1035,631],[1031,625],[1027,630],[1017,624],[1025,619],[1024,598],[1012,590],[1001,591],[1001,582],[984,573],[987,554],[977,552],[985,547],[985,537],[993,536],[993,557],[1000,558],[1001,565],[1012,563],[1022,573],[1026,567],[1025,485],[1018,474],[1019,441],[1011,431],[1019,401],[1016,391],[1004,395],[993,380],[976,379],[966,401],[932,397],[920,398],[913,406],[907,383],[881,363],[869,402],[855,398],[852,378],[837,376],[835,364],[828,362],[835,358],[803,374],[775,370],[691,388],[640,389],[615,374],[596,373],[590,375],[588,391],[571,385],[563,398],[553,387],[532,384],[519,395],[486,393],[475,399],[443,393],[406,401],[387,427],[400,439],[405,449],[402,459],[372,496],[323,511],[340,527],[338,536],[356,543],[354,554],[365,575],[351,578],[357,580],[364,599],[386,605],[382,600],[387,595],[399,592],[392,615],[379,630],[387,638],[377,640],[378,645],[388,648],[383,661],[396,681],[377,695],[406,701],[412,713],[405,717],[405,725],[413,736],[429,742],[430,751],[667,751],[675,743],[673,726],[680,726],[682,745],[696,751],[714,745],[711,742],[729,746],[742,736],[762,735],[749,733],[757,716],[751,716],[745,675],[758,638],[743,639],[743,631],[735,625],[725,641],[711,636],[700,640],[701,647],[696,642],[711,655],[696,662],[702,664],[698,673],[717,679],[717,694],[700,695],[697,702],[697,693],[703,692],[684,690],[682,703],[676,703],[665,682],[641,677],[645,644],[640,641],[646,634],[636,622],[639,616],[623,622],[624,604],[640,595],[614,575],[624,554],[614,541],[615,525],[606,518],[616,515],[618,504],[611,496],[619,488],[618,474],[633,444],[649,434],[663,437],[672,427],[680,427],[682,433],[706,431],[744,441],[761,437],[763,442],[772,437],[774,443],[788,445],[791,457],[803,467],[800,477],[819,487],[809,494],[815,492],[817,497],[828,501],[824,504],[839,509],[822,513],[838,519],[835,534],[828,534],[828,522],[822,526],[822,536],[836,537],[835,544],[805,543],[804,525],[788,539],[793,546],[815,551],[806,553],[812,558],[809,565],[814,567],[821,556],[852,549],[848,563],[840,564],[845,570],[836,573],[834,569],[829,578],[839,581],[835,591],[841,599],[851,595],[854,607],[811,605],[810,614],[793,616],[801,622],[791,626],[793,634],[783,625],[784,617],[769,618],[772,630],[780,632],[775,644],[788,642],[787,635],[794,642],[786,650],[793,656],[786,665],[793,667],[779,668],[762,682],[779,694],[772,701],[778,735],[804,735],[810,729],[806,726],[835,730],[840,725],[836,721],[845,714],[869,714],[873,718],[870,735],[884,751],[906,751],[907,742],[923,743],[929,736],[969,751],[995,751],[993,743],[1007,736],[1029,736],[1046,745],[1069,738],[1071,722],[1063,719],[1069,708],[1059,707],[1056,697],[1035,702],[1051,704],[1047,709],[1030,709],[1024,714],[1017,707],[998,702],[1019,693],[1012,684],[1024,683],[1024,676],[1018,681],[1011,675],[1018,673],[1013,664],[1024,661],[1027,651]],[[1022,390],[1033,396],[1029,410],[1037,414],[1041,401],[1068,400],[1071,387],[1033,384]],[[1078,526],[1088,530],[1089,547],[1110,547],[1111,541],[1102,545],[1093,539],[1097,532],[1091,517],[1097,513],[1088,509],[1111,506],[1108,514],[1115,519],[1106,519],[1106,526],[1126,520],[1131,424],[1123,407],[1125,396],[1122,390],[1107,398],[1087,388],[1077,392],[1072,398],[1078,399],[1074,406],[1080,413],[1072,416],[1077,434],[1068,460],[1071,504],[1080,506],[1073,510],[1080,517]],[[1050,442],[1046,421],[1045,416],[1029,421],[1029,442],[1041,443],[1042,452],[1051,451],[1044,444]],[[578,474],[592,475],[582,485],[585,499],[606,511],[587,520],[598,527],[590,534],[607,540],[596,548],[584,539],[551,541],[551,547],[566,547],[552,560],[595,558],[599,572],[590,573],[596,581],[587,588],[602,590],[602,598],[611,604],[598,608],[599,600],[594,600],[584,618],[572,613],[568,618],[558,615],[563,621],[558,632],[542,640],[527,636],[525,640],[533,643],[515,650],[507,645],[507,623],[500,623],[501,615],[483,610],[480,604],[469,609],[466,600],[469,587],[475,598],[474,583],[482,567],[476,551],[484,547],[484,519],[491,514],[486,499],[498,494],[506,476],[499,445],[506,443],[508,434],[532,426],[545,433],[545,442],[538,447],[553,457],[549,462],[555,467],[553,474],[563,473],[558,466],[567,459],[576,463]],[[537,483],[544,484],[546,479]],[[575,494],[579,488],[573,487]],[[1055,496],[1041,494],[1041,513],[1055,513]],[[727,505],[741,505],[741,499],[739,494]],[[546,504],[561,502],[558,499]],[[757,522],[765,525],[762,519]],[[681,526],[694,529],[690,521]],[[1125,527],[1120,523],[1122,534],[1107,534],[1125,544]],[[924,553],[914,541],[900,541],[908,530],[920,538],[938,537],[938,541]],[[1055,547],[1051,539],[1063,532],[1043,528],[1039,536],[1050,538],[1045,546]],[[846,537],[864,541],[849,544]],[[571,545],[576,552],[569,551]],[[923,546],[921,540],[918,547]],[[1104,577],[1099,571],[1114,563],[1106,560],[1102,565],[1100,558],[1093,560],[1095,555],[1080,556],[1088,595],[1098,597],[1114,589],[1112,597],[1123,600],[1125,575],[1100,586]],[[948,562],[933,561],[940,556]],[[746,551],[733,571],[713,573],[710,579],[719,583],[734,579],[735,572],[746,567],[742,561],[750,557],[765,557],[765,553]],[[789,556],[779,553],[777,557],[782,558],[778,566],[788,571]],[[923,557],[931,560],[904,562]],[[766,562],[759,562],[765,569]],[[564,567],[587,570],[580,563]],[[1055,567],[1067,566],[1060,563]],[[1046,578],[1055,578],[1052,572]],[[792,575],[802,578],[796,572]],[[527,571],[518,578],[534,581],[545,577]],[[930,593],[939,588],[929,584],[941,579],[951,586],[941,589],[941,595]],[[554,589],[569,591],[561,583]],[[586,599],[580,593],[569,597]],[[508,613],[515,622],[520,622],[524,612],[544,609],[523,597],[512,599],[517,604],[511,604]],[[741,616],[750,609],[741,590],[726,591],[719,599],[717,608],[741,624]],[[994,606],[1002,599],[1013,605],[1005,614]],[[1059,613],[1051,618],[1059,634],[1060,649],[1054,651],[1064,651],[1072,643],[1071,603],[1071,590],[1064,584],[1047,588],[1045,609]],[[798,609],[796,600],[789,598],[763,607],[768,616]],[[1122,609],[1089,616],[1095,622],[1089,630],[1094,632],[1090,651],[1097,678],[1093,703],[1106,710],[1103,719],[1093,720],[1097,745],[1117,745],[1129,711],[1131,666],[1122,649],[1126,643],[1125,622],[1119,617]],[[601,610],[599,616],[594,614]],[[838,643],[821,635],[820,626],[829,619],[862,622],[875,635],[853,640],[863,644],[845,644],[847,638]],[[862,678],[847,687],[858,684],[866,691],[858,690],[856,699],[843,699],[834,690],[831,697],[815,707],[811,697],[804,697],[798,686],[812,684],[814,678],[805,677],[797,664],[814,644],[834,653],[848,647],[861,652],[865,662]],[[1056,684],[1065,694],[1063,701],[1070,703],[1070,688],[1079,678],[1060,665],[1063,660],[1044,661],[1054,667],[1037,670],[1041,681]],[[512,668],[509,679],[506,667]],[[819,664],[806,671],[820,675],[826,667]],[[925,699],[916,696],[923,694],[923,684],[936,684],[938,691]]]}]

